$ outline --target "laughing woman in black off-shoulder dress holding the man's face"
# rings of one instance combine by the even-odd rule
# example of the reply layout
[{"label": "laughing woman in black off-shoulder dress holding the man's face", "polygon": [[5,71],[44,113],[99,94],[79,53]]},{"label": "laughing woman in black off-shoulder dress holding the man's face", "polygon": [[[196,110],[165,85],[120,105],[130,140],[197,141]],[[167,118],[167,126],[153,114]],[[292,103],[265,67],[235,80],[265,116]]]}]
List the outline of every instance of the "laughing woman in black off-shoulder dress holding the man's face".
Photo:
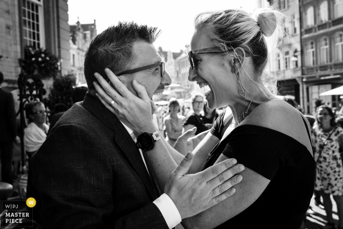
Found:
[{"label": "laughing woman in black off-shoulder dress holding the man's face", "polygon": [[[189,173],[227,158],[236,158],[245,165],[245,170],[233,196],[183,219],[185,228],[298,229],[302,224],[313,195],[316,168],[309,125],[294,107],[275,98],[263,85],[262,78],[268,61],[265,37],[275,30],[276,34],[282,31],[276,14],[277,11],[268,8],[260,9],[252,17],[242,9],[230,9],[196,17],[188,79],[200,87],[210,87],[211,91],[205,93],[209,108],[227,105],[233,113],[235,128],[227,128],[221,139],[208,133],[193,152]],[[129,123],[139,117],[127,108],[133,100],[137,107],[145,104],[147,111],[151,109],[147,96],[138,100],[127,93],[113,73],[108,72],[107,76],[124,95],[120,96],[98,77],[101,86],[112,95],[98,86],[103,98],[100,100],[113,113]],[[137,94],[143,98],[144,87],[135,85]],[[115,109],[109,105],[112,100]],[[134,125],[142,127],[138,121]],[[147,126],[152,129],[153,124],[144,125],[145,129]],[[165,168],[174,163],[171,156],[165,155],[147,153],[157,176],[167,175]]]}]

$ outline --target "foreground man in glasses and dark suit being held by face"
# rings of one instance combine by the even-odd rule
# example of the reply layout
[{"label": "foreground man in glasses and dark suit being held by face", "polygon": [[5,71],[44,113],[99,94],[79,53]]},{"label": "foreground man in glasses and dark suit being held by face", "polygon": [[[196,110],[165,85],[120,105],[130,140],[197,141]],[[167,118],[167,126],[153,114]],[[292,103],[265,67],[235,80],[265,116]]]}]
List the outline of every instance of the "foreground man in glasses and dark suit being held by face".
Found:
[{"label": "foreground man in glasses and dark suit being held by face", "polygon": [[[157,34],[156,28],[119,23],[91,42],[85,56],[89,91],[84,101],[61,117],[31,159],[42,199],[43,229],[171,229],[232,194],[225,190],[232,186],[229,182],[237,182],[223,181],[237,173],[237,165],[226,170],[231,164],[225,161],[184,176],[192,163],[190,153],[184,159],[175,157],[177,163],[182,161],[161,195],[135,133],[95,96],[94,73],[105,68],[123,72],[144,60],[160,62],[152,45]],[[125,74],[123,80],[139,80],[152,96],[171,83],[168,74],[162,77],[161,65]]]}]

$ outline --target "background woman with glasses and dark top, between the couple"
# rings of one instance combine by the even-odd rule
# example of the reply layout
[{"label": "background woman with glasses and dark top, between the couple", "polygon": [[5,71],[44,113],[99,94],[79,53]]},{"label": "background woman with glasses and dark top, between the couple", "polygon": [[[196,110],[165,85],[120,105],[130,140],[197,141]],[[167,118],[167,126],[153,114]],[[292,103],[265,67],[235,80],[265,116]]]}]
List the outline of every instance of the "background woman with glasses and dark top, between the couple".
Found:
[{"label": "background woman with glasses and dark top, between the couple", "polygon": [[186,120],[183,123],[182,133],[186,132],[189,129],[192,129],[193,127],[196,127],[195,134],[199,134],[209,129],[205,126],[205,124],[200,118],[200,112],[203,108],[204,98],[200,94],[194,94],[191,100],[193,110],[188,112],[186,116]]}]

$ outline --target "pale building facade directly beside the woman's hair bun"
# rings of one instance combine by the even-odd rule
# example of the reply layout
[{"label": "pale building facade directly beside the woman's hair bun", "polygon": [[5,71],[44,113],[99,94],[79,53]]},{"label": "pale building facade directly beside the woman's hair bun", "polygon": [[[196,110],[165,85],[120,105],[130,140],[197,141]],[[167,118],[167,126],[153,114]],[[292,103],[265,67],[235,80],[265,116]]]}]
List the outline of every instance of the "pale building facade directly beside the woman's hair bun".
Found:
[{"label": "pale building facade directly beside the woman's hair bun", "polygon": [[[268,2],[265,0],[265,2]],[[277,81],[277,89],[282,96],[292,96],[301,104],[301,42],[300,14],[298,0],[271,0],[274,8],[278,8],[286,16],[282,19],[284,34],[277,47],[270,52],[270,76]]]}]

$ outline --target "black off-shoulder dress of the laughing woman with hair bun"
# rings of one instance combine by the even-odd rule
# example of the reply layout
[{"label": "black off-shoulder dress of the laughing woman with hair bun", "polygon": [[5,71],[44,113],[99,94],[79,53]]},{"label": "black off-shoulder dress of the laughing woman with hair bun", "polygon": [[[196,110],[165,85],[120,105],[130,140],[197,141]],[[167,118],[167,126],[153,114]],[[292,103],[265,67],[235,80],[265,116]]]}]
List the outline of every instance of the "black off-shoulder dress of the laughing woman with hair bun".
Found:
[{"label": "black off-shoulder dress of the laughing woman with hair bun", "polygon": [[[221,135],[222,117],[211,130],[216,136]],[[215,146],[201,170],[213,165],[221,153],[236,158],[270,183],[253,204],[217,229],[300,228],[313,195],[316,174],[315,160],[304,145],[270,128],[242,125]]]}]

